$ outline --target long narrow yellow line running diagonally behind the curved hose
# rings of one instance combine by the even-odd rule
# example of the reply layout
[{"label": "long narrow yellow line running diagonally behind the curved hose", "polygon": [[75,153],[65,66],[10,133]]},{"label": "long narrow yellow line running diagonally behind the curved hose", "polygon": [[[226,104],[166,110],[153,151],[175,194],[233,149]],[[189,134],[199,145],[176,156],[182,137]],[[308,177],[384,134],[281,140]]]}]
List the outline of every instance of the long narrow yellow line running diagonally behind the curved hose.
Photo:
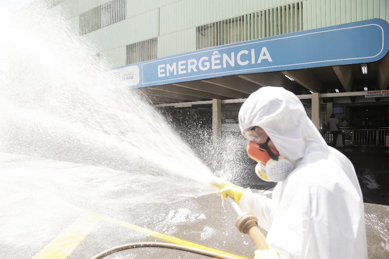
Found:
[{"label": "long narrow yellow line running diagonally behind the curved hose", "polygon": [[235,254],[230,254],[230,253],[227,253],[227,252],[224,252],[224,251],[221,251],[221,250],[213,249],[213,248],[206,247],[206,246],[203,246],[203,245],[199,245],[199,244],[196,244],[196,243],[193,243],[193,242],[189,242],[189,241],[186,241],[186,240],[175,238],[173,236],[168,236],[168,235],[156,232],[156,231],[152,231],[152,230],[147,229],[147,228],[142,228],[142,227],[139,227],[139,226],[136,226],[136,225],[124,222],[124,221],[120,221],[120,220],[117,220],[117,219],[113,219],[113,218],[110,218],[110,217],[106,217],[105,216],[104,219],[106,221],[115,223],[115,224],[117,224],[119,226],[123,226],[125,228],[129,228],[129,229],[131,229],[133,231],[137,231],[137,232],[140,232],[140,233],[144,233],[145,235],[148,235],[148,236],[152,236],[152,237],[155,237],[155,238],[158,238],[158,239],[161,239],[161,240],[165,240],[165,241],[167,241],[169,243],[175,243],[175,244],[178,244],[178,245],[185,245],[187,247],[193,247],[193,248],[207,250],[207,251],[210,251],[210,252],[216,252],[216,253],[224,254],[224,255],[228,255],[228,256],[234,256],[234,257],[241,258],[241,259],[247,259],[246,257],[237,256]]}]

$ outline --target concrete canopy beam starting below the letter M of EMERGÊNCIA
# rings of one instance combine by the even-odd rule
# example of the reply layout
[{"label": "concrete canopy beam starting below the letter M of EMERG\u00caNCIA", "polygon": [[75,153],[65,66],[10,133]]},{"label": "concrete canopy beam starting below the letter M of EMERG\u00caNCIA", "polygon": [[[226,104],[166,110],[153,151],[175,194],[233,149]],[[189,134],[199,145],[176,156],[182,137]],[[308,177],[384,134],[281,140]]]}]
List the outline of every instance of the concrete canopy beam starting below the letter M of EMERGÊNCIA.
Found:
[{"label": "concrete canopy beam starting below the letter M of EMERG\u00caNCIA", "polygon": [[226,87],[209,84],[203,81],[189,81],[172,84],[174,86],[182,86],[190,89],[205,91],[208,93],[219,94],[230,98],[247,98],[249,94],[245,94],[236,90],[228,89]]}]

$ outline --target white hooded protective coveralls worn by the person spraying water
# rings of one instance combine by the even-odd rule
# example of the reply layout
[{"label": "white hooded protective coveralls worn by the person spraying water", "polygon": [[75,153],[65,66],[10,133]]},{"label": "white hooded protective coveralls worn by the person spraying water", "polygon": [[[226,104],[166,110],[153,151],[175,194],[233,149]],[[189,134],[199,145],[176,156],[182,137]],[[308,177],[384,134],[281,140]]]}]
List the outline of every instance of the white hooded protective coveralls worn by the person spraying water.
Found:
[{"label": "white hooded protective coveralls worn by the person spraying water", "polygon": [[281,87],[262,87],[239,112],[240,130],[265,130],[294,164],[272,199],[246,189],[239,205],[258,217],[281,259],[367,258],[363,198],[349,159],[329,147],[301,101]]}]

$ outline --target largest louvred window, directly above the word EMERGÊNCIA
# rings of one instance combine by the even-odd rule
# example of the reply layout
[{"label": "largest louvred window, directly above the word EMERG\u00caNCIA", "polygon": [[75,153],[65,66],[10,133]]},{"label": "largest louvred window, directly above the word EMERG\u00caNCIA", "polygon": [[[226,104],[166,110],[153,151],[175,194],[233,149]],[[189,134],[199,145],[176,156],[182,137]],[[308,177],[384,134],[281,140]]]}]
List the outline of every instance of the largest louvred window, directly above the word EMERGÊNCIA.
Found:
[{"label": "largest louvred window, directly above the word EMERG\u00caNCIA", "polygon": [[221,46],[303,30],[303,2],[197,26],[196,48]]}]

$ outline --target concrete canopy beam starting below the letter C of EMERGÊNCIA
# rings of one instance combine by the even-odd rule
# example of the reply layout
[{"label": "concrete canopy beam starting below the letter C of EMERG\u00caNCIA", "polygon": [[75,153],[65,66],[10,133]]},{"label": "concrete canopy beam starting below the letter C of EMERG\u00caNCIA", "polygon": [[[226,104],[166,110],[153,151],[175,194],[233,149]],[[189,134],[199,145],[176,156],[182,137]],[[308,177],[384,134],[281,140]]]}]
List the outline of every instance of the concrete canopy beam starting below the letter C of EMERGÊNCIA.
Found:
[{"label": "concrete canopy beam starting below the letter C of EMERG\u00caNCIA", "polygon": [[238,75],[238,77],[245,79],[249,82],[257,84],[258,86],[276,86],[284,87],[289,91],[293,91],[294,84],[291,80],[285,76],[281,76],[280,73],[258,73],[251,75]]}]

